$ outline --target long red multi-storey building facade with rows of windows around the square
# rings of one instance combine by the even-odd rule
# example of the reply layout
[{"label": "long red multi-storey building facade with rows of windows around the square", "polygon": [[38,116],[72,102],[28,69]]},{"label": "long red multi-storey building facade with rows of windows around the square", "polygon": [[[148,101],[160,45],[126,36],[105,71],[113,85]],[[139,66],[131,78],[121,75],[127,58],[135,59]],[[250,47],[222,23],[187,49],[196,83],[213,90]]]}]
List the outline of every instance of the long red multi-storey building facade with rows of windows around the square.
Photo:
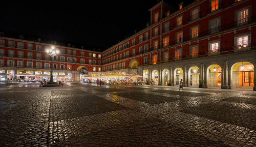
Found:
[{"label": "long red multi-storey building facade with rows of windows around the square", "polygon": [[[62,70],[64,65],[66,73],[72,71],[74,81],[79,79],[76,72],[86,67],[89,74],[136,73],[145,82],[155,80],[159,85],[176,85],[183,79],[185,86],[198,86],[199,80],[203,80],[207,87],[255,89],[255,5],[252,0],[198,0],[188,6],[181,4],[178,11],[172,12],[172,7],[161,1],[150,9],[151,24],[140,32],[103,52],[56,46],[65,52],[58,55],[54,64],[56,70]],[[10,67],[8,60],[14,61],[13,67],[18,60],[23,60],[24,65],[33,62],[33,68],[40,61],[41,69],[50,62],[44,52],[48,44],[0,40],[4,40],[4,46],[0,47],[5,50],[0,57],[1,63],[4,60],[3,67]],[[9,46],[9,40],[15,42],[14,48]],[[24,49],[18,47],[18,42],[24,42]],[[33,44],[32,59],[27,56],[28,43]],[[37,45],[42,50],[37,50]],[[14,57],[8,54],[11,49]],[[18,57],[19,50],[24,51],[24,57]],[[40,60],[35,58],[36,53],[42,54]],[[91,56],[95,53],[96,57],[90,57],[89,53]],[[65,57],[65,62],[60,61],[60,56]],[[248,71],[241,71],[245,67]]]}]

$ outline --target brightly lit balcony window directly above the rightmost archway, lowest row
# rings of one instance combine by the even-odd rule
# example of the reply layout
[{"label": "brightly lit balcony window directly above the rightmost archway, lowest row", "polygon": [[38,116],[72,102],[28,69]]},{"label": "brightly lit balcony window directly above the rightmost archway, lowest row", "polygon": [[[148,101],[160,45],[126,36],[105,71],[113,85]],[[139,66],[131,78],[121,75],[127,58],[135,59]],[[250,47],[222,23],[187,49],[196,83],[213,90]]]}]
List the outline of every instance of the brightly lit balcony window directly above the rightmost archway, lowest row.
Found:
[{"label": "brightly lit balcony window directly above the rightmost archway, lowest row", "polygon": [[251,35],[241,35],[234,38],[234,46],[237,46],[237,49],[249,47],[251,43]]}]

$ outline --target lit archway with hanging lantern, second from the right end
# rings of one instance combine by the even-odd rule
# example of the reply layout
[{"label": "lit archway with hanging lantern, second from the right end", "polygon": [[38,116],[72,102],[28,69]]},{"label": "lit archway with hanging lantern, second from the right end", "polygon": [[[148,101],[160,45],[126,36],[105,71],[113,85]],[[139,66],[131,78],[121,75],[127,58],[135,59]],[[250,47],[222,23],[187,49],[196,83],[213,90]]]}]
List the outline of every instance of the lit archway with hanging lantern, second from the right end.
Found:
[{"label": "lit archway with hanging lantern, second from the right end", "polygon": [[222,68],[218,64],[208,66],[206,70],[207,87],[221,87]]}]

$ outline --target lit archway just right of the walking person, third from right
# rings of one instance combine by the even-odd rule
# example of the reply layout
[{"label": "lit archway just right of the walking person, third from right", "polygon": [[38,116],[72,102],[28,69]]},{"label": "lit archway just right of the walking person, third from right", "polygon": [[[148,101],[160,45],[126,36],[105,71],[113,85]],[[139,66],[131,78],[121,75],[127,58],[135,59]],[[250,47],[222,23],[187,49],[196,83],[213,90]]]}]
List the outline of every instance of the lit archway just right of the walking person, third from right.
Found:
[{"label": "lit archway just right of the walking person, third from right", "polygon": [[188,69],[188,86],[197,86],[199,85],[199,76],[200,71],[199,67],[192,66]]}]

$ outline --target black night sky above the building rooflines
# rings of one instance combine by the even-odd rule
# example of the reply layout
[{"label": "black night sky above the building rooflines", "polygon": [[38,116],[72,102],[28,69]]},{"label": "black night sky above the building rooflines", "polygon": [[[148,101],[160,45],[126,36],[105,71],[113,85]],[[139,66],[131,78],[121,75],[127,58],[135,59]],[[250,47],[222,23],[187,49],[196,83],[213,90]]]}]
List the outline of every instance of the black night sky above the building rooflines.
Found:
[{"label": "black night sky above the building rooflines", "polygon": [[[148,9],[159,1],[14,2],[1,6],[1,31],[102,51],[145,28]],[[165,2],[178,8],[184,1]]]}]

